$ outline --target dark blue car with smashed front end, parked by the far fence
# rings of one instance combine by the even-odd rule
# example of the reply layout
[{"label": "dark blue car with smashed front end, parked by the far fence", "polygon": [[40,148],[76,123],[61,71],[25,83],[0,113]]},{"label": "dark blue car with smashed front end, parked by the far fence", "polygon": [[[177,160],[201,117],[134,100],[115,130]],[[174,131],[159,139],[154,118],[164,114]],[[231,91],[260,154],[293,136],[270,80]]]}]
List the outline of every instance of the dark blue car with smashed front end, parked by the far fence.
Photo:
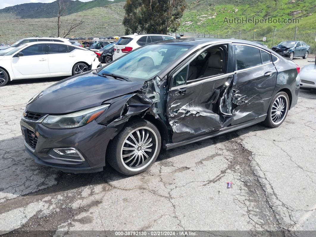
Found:
[{"label": "dark blue car with smashed front end, parked by the far fence", "polygon": [[294,57],[303,57],[307,59],[310,46],[308,46],[303,41],[284,41],[276,46],[272,47],[272,50],[281,56],[289,57],[293,59]]}]

